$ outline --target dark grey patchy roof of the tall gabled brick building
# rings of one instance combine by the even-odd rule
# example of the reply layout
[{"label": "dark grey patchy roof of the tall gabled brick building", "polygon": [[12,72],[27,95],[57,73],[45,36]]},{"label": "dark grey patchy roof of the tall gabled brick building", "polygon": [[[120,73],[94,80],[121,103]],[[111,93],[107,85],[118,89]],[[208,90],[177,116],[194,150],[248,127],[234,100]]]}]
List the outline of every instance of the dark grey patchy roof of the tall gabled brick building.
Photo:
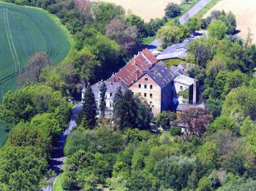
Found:
[{"label": "dark grey patchy roof of the tall gabled brick building", "polygon": [[157,63],[150,70],[144,70],[143,75],[145,74],[148,74],[161,88],[168,85],[175,78],[174,73],[162,62]]}]

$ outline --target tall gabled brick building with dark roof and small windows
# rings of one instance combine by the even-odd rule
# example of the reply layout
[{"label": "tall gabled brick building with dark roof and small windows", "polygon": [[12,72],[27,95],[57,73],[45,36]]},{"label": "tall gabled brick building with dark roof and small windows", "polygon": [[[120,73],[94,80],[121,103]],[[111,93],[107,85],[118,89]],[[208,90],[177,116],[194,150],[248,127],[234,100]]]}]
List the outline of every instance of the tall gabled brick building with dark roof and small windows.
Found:
[{"label": "tall gabled brick building with dark roof and small windows", "polygon": [[164,110],[172,109],[174,78],[174,73],[160,62],[150,70],[144,70],[143,75],[129,89],[134,95],[143,98],[156,116]]}]

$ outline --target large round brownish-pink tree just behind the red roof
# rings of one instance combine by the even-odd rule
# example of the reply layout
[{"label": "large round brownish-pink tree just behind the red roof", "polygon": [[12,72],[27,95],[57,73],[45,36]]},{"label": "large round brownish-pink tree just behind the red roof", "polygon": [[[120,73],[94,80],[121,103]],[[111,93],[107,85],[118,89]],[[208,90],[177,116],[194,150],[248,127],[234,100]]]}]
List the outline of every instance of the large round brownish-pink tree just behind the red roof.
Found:
[{"label": "large round brownish-pink tree just behind the red roof", "polygon": [[122,19],[113,19],[106,26],[106,35],[120,45],[124,54],[134,52],[138,41],[136,27],[125,24]]}]

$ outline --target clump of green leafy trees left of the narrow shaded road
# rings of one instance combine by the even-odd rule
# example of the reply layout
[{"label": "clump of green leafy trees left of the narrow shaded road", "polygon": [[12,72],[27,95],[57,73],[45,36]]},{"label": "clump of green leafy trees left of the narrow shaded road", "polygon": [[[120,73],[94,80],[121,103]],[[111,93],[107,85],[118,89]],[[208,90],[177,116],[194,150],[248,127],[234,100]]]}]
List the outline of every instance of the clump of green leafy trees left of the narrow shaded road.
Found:
[{"label": "clump of green leafy trees left of the narrow shaded road", "polygon": [[68,126],[71,107],[60,91],[37,84],[4,95],[0,120],[14,126],[0,149],[0,190],[40,190],[53,176],[48,160]]}]

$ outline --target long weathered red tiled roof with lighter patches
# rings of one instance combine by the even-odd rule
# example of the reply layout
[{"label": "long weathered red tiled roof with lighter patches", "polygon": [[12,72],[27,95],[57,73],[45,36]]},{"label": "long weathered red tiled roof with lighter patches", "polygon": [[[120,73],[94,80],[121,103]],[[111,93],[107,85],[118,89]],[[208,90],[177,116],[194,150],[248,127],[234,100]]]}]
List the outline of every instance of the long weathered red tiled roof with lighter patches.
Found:
[{"label": "long weathered red tiled roof with lighter patches", "polygon": [[131,86],[136,80],[138,80],[143,70],[150,69],[157,63],[156,57],[148,50],[145,49],[142,52],[131,59],[122,69],[119,70],[116,75],[111,77],[111,82],[124,82],[125,85]]}]

